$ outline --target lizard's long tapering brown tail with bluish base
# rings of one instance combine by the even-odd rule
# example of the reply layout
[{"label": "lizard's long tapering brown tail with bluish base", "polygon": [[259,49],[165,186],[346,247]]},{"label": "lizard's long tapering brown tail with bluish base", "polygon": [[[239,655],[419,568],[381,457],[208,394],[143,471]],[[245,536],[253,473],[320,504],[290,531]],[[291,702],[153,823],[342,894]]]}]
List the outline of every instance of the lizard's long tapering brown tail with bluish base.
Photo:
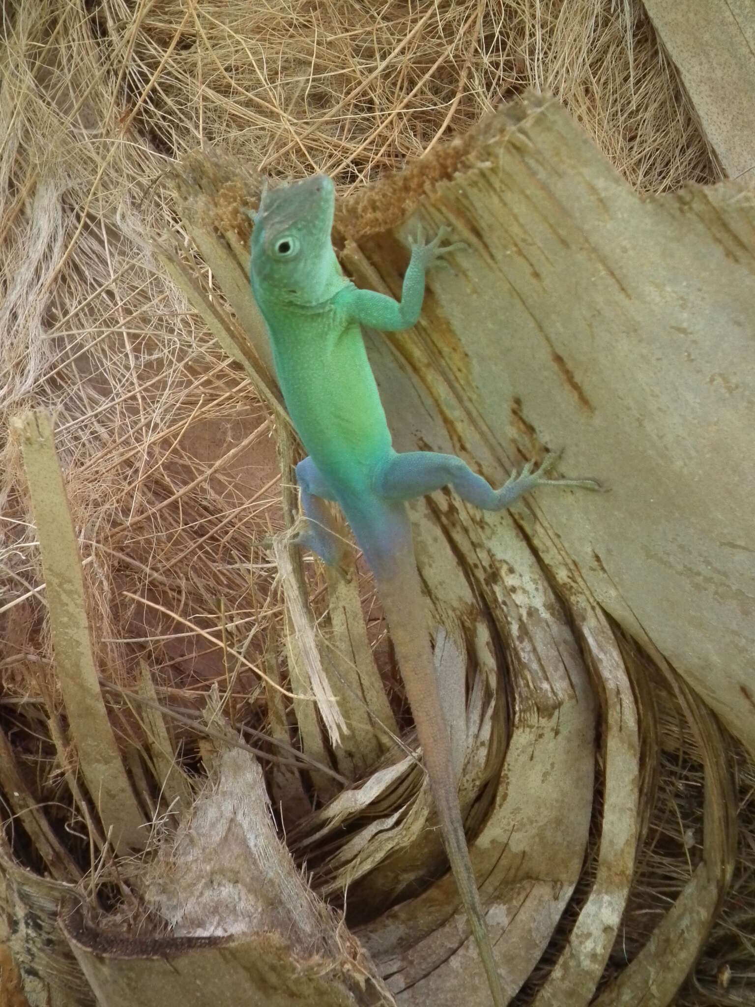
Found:
[{"label": "lizard's long tapering brown tail with bluish base", "polygon": [[378,593],[422,745],[443,844],[482,959],[494,1007],[503,1007],[507,998],[493,959],[459,810],[451,746],[433,665],[409,516],[404,503],[384,507],[380,517],[375,520],[373,515],[369,522],[364,520],[365,516],[360,516],[361,521],[356,515],[347,514],[346,517],[375,575]]}]

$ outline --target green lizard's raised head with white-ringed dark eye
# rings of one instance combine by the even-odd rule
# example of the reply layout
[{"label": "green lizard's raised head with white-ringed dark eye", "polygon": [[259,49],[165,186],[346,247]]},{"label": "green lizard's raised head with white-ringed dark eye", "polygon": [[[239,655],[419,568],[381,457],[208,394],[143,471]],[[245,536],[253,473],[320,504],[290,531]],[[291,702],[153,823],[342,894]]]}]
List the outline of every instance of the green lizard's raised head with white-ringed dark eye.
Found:
[{"label": "green lizard's raised head with white-ringed dark eye", "polygon": [[340,268],[330,244],[335,191],[327,175],[263,193],[254,214],[252,285],[267,299],[316,304]]}]

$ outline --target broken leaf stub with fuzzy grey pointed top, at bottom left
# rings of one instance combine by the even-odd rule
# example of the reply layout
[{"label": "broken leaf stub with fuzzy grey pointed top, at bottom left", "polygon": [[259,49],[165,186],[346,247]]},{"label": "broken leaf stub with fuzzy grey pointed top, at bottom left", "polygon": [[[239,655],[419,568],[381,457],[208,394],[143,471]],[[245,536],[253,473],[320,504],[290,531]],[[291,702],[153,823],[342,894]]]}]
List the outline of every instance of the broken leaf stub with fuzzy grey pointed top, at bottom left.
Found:
[{"label": "broken leaf stub with fuzzy grey pointed top, at bottom left", "polygon": [[[215,709],[216,700],[215,692]],[[217,729],[233,738],[226,724]],[[276,834],[257,760],[224,748],[211,762],[215,779],[144,885],[176,937],[129,942],[119,933],[109,942],[78,914],[63,920],[100,1002],[395,1007],[374,966]]]}]

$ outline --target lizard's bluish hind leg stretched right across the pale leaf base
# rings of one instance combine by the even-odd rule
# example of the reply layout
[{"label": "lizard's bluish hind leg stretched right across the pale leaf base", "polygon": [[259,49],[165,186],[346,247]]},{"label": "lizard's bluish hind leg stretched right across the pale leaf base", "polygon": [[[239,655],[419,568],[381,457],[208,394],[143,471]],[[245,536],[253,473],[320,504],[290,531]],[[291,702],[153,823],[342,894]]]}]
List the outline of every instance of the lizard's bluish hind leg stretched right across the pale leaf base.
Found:
[{"label": "lizard's bluish hind leg stretched right across the pale leaf base", "polygon": [[546,478],[545,473],[558,459],[557,453],[546,455],[535,471],[535,462],[527,462],[520,475],[512,472],[500,489],[494,489],[487,479],[473,472],[465,461],[454,454],[407,451],[392,455],[380,467],[373,480],[373,488],[375,493],[386,499],[409,500],[452,485],[462,499],[483,511],[502,511],[538,486],[601,488],[595,479]]}]

